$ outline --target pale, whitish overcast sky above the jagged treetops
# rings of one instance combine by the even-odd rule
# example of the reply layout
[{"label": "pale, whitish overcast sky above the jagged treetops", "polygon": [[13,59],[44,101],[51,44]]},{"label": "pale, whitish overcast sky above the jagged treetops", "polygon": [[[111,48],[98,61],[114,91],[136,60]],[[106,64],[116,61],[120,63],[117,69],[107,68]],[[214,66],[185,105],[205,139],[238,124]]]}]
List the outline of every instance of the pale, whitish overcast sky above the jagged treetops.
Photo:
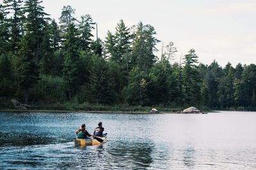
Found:
[{"label": "pale, whitish overcast sky above the jagged treetops", "polygon": [[[2,1],[2,0],[1,0]],[[0,2],[1,2],[0,1]],[[131,27],[142,21],[152,25],[161,55],[162,46],[173,41],[179,62],[193,48],[198,61],[211,64],[216,60],[224,67],[256,64],[255,0],[43,0],[42,6],[51,18],[61,15],[63,6],[76,10],[76,17],[90,14],[98,25],[99,38],[115,32],[120,19]],[[96,33],[93,32],[94,34]]]}]

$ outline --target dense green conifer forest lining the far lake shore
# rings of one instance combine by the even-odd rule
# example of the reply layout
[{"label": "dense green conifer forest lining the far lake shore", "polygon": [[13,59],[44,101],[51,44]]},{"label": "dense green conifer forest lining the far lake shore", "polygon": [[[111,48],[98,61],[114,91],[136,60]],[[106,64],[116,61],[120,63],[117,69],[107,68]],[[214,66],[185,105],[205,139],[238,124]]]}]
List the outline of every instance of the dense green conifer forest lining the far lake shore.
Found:
[{"label": "dense green conifer forest lining the far lake shore", "polygon": [[152,25],[129,28],[120,20],[102,41],[93,38],[90,15],[75,18],[64,6],[57,23],[41,3],[4,0],[0,6],[1,99],[256,109],[255,64],[198,64],[193,49],[184,62],[172,63],[172,41],[154,55],[159,40]]}]

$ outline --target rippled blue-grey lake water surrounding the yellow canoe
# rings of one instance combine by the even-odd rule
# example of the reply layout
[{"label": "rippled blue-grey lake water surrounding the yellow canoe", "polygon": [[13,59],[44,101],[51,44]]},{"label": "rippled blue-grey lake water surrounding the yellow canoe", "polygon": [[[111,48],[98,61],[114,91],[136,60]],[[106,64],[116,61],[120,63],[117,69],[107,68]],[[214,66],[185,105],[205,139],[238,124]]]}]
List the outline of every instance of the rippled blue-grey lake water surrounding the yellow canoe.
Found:
[{"label": "rippled blue-grey lake water surrounding the yellow canoe", "polygon": [[[0,169],[256,169],[256,113],[0,113]],[[83,123],[108,142],[75,148]]]}]

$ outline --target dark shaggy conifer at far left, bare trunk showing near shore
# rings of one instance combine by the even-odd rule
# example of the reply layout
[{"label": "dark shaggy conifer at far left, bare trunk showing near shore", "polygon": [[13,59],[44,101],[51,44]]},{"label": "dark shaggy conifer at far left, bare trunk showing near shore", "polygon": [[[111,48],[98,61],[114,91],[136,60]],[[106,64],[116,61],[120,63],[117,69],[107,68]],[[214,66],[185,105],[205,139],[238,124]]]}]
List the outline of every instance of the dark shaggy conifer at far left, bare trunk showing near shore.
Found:
[{"label": "dark shaggy conifer at far left, bare trunk showing near shore", "polygon": [[32,35],[27,32],[20,43],[19,51],[19,84],[25,89],[25,104],[29,103],[29,89],[38,82],[38,66],[33,60],[33,46],[31,45]]}]

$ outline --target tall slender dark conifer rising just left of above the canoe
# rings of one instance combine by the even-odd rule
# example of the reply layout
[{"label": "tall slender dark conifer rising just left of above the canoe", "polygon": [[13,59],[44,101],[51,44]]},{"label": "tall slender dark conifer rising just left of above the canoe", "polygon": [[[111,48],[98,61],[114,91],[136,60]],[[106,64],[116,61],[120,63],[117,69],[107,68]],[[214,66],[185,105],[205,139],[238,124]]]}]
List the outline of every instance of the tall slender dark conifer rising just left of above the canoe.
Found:
[{"label": "tall slender dark conifer rising just left of above the canoe", "polygon": [[74,24],[70,24],[65,34],[65,42],[63,43],[63,76],[67,85],[68,99],[72,97],[72,92],[75,92],[79,85],[77,64],[79,61],[79,52],[77,45],[78,31]]}]

